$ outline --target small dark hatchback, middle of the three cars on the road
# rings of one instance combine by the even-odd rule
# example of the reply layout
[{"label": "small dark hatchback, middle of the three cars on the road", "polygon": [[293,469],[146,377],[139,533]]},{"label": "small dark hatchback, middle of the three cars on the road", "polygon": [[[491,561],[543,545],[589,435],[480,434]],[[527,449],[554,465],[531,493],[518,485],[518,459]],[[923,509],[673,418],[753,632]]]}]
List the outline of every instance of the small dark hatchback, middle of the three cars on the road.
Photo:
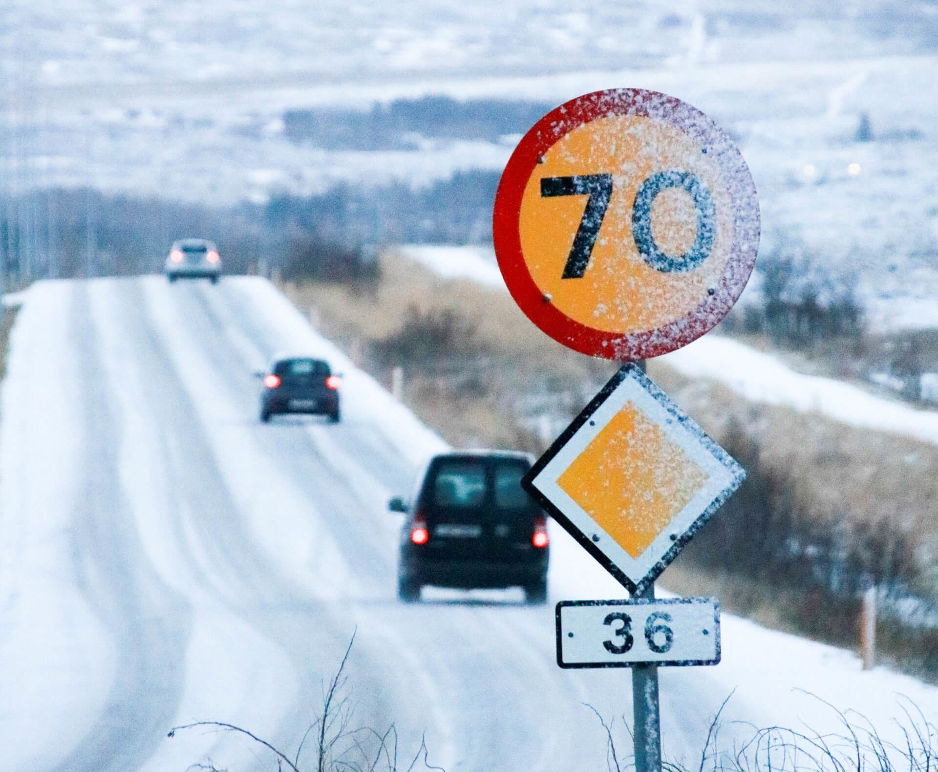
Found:
[{"label": "small dark hatchback, middle of the three cars on the road", "polygon": [[271,362],[261,392],[261,420],[280,413],[318,413],[339,420],[340,377],[329,363],[308,356],[281,357]]}]

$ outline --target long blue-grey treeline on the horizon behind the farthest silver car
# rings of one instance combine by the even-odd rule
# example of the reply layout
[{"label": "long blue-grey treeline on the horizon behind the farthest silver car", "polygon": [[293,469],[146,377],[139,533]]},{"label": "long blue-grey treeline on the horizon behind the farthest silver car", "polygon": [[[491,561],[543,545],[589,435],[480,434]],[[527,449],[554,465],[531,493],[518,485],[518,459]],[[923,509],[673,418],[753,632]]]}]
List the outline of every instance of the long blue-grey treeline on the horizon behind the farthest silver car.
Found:
[{"label": "long blue-grey treeline on the horizon behind the farthest silver car", "polygon": [[491,241],[498,177],[464,172],[424,189],[339,185],[227,208],[38,190],[0,200],[0,266],[7,289],[32,279],[152,273],[174,239],[201,236],[219,244],[228,273],[355,279],[376,269],[382,244]]}]

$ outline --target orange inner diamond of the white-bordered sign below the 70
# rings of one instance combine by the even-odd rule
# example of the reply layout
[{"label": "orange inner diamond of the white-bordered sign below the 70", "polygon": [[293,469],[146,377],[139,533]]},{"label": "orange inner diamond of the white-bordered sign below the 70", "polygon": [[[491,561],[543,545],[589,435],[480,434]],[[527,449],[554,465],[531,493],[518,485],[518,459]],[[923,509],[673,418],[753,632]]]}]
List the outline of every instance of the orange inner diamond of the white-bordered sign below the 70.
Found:
[{"label": "orange inner diamond of the white-bordered sign below the 70", "polygon": [[706,472],[630,401],[557,478],[633,558],[706,481]]}]

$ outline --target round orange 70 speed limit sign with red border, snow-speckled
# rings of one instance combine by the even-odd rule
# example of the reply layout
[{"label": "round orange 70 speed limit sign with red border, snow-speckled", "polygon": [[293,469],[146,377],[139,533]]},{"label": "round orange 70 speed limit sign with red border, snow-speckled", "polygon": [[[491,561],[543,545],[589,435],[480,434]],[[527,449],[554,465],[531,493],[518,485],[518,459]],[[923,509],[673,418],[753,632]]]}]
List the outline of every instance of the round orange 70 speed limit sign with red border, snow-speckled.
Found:
[{"label": "round orange 70 speed limit sign with red border, snow-speckled", "polygon": [[759,203],[729,137],[680,99],[598,91],[545,115],[508,160],[495,254],[532,322],[591,356],[687,345],[746,286]]}]

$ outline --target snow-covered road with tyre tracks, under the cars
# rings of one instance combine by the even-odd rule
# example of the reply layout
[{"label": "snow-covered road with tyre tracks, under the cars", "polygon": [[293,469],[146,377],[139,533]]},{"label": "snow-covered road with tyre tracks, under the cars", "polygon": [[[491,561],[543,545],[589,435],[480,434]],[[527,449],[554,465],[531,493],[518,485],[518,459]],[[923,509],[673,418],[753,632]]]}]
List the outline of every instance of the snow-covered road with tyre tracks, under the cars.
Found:
[{"label": "snow-covered road with tyre tracks, under the cars", "polygon": [[[311,350],[345,373],[343,421],[257,422],[251,372]],[[626,671],[561,671],[552,605],[520,591],[394,595],[385,510],[439,438],[265,280],[40,282],[0,401],[0,770],[269,769],[230,721],[295,748],[357,628],[356,723],[426,733],[447,770],[602,770]],[[564,535],[551,595],[621,597]],[[665,754],[709,719],[816,718],[802,687],[871,719],[938,692],[724,617],[724,663],[662,672]],[[311,761],[311,759],[310,759]]]}]

